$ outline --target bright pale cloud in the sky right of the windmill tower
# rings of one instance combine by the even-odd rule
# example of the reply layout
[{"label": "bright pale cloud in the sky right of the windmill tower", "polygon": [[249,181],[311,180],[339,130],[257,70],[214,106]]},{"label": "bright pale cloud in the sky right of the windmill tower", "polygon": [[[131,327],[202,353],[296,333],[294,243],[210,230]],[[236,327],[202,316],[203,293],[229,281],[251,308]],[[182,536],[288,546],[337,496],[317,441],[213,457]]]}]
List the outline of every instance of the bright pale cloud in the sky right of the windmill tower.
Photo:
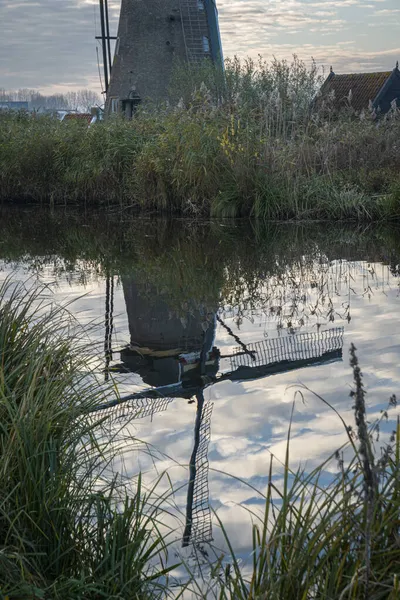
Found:
[{"label": "bright pale cloud in the sky right of the windmill tower", "polygon": [[[368,6],[374,9],[387,1],[375,0]],[[354,15],[350,17],[348,8],[353,12],[357,10],[359,19]],[[257,57],[261,54],[290,58],[296,53],[306,60],[312,56],[320,64],[333,63],[337,71],[348,72],[364,70],[366,63],[369,65],[367,70],[371,71],[391,68],[399,54],[394,34],[392,48],[385,40],[386,45],[376,49],[359,36],[363,29],[359,21],[362,23],[365,17],[365,4],[360,0],[222,1],[219,2],[219,13],[226,56]],[[326,44],[324,38],[333,34],[341,34],[341,41]],[[289,40],[288,35],[296,41]],[[347,40],[342,39],[344,35]],[[357,42],[355,38],[358,38]],[[360,38],[362,43],[359,43]],[[309,39],[310,43],[307,43]],[[348,48],[343,47],[343,41]]]}]

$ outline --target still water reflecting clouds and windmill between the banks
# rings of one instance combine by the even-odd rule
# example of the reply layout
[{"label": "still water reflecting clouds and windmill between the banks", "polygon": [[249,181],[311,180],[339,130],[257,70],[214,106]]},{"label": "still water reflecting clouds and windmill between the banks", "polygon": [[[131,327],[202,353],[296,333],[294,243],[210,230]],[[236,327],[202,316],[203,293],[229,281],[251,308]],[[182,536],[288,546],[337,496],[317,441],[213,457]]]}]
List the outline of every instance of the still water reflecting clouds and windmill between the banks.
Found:
[{"label": "still water reflecting clouds and windmill between the banks", "polygon": [[[97,324],[90,336],[99,378],[137,394],[110,412],[118,427],[125,419],[125,439],[144,442],[127,442],[120,468],[142,470],[149,483],[168,473],[189,553],[211,538],[224,546],[211,506],[248,558],[249,511],[262,510],[254,488],[266,490],[271,453],[284,460],[295,398],[293,467],[310,470],[345,442],[339,419],[312,391],[353,423],[351,343],[371,422],[399,392],[394,228],[5,211],[0,233],[0,278],[51,283],[56,301],[74,300],[77,319]],[[389,416],[378,452],[395,411]],[[326,480],[336,470],[332,461]]]}]

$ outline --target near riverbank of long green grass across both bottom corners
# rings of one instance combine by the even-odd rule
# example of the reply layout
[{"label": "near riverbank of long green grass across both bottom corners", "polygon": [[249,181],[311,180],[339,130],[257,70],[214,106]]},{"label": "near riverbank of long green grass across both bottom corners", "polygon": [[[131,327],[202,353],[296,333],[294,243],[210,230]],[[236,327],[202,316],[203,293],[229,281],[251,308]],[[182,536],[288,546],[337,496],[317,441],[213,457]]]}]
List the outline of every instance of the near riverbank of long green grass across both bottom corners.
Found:
[{"label": "near riverbank of long green grass across both bottom corners", "polygon": [[[36,303],[45,298],[39,314]],[[113,415],[91,416],[105,391],[90,378],[83,333],[51,305],[48,288],[0,287],[1,597],[153,600],[187,586],[192,597],[226,600],[398,599],[400,425],[388,444],[380,442],[382,452],[375,449],[386,415],[367,431],[354,348],[348,402],[356,425],[343,423],[345,453],[311,473],[293,473],[289,410],[285,464],[271,457],[266,486],[253,489],[261,512],[251,515],[248,564],[227,539],[226,556],[217,551],[213,561],[210,552],[207,564],[202,553],[203,582],[174,556],[172,566],[186,570],[183,584],[165,567],[171,550],[160,536],[162,498],[155,504],[140,478],[127,482],[105,468],[118,457]],[[388,399],[389,417],[396,403]]]}]

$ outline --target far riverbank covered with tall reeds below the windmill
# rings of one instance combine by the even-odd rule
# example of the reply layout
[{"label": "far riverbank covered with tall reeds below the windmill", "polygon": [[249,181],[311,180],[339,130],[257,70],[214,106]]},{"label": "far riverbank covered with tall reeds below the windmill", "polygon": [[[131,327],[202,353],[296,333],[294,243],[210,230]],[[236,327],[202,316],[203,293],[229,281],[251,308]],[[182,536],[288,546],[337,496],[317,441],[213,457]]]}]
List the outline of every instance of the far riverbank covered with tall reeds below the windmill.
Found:
[{"label": "far riverbank covered with tall reeds below the windmill", "polygon": [[297,59],[263,68],[233,61],[222,96],[199,73],[175,104],[144,107],[132,122],[87,129],[1,115],[0,201],[188,217],[399,218],[399,110],[378,121],[351,106],[310,113],[319,84]]}]

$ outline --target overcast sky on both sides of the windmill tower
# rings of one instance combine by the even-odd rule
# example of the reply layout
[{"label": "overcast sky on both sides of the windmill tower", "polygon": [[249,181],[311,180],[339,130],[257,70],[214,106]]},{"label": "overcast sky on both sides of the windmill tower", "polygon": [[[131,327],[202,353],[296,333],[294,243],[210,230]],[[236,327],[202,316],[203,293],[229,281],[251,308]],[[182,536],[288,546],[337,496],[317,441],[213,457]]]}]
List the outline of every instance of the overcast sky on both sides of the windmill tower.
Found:
[{"label": "overcast sky on both sides of the windmill tower", "polygon": [[[113,33],[120,0],[109,0]],[[225,57],[297,53],[337,73],[400,60],[400,0],[217,0]],[[100,89],[98,0],[0,0],[0,88]]]}]

